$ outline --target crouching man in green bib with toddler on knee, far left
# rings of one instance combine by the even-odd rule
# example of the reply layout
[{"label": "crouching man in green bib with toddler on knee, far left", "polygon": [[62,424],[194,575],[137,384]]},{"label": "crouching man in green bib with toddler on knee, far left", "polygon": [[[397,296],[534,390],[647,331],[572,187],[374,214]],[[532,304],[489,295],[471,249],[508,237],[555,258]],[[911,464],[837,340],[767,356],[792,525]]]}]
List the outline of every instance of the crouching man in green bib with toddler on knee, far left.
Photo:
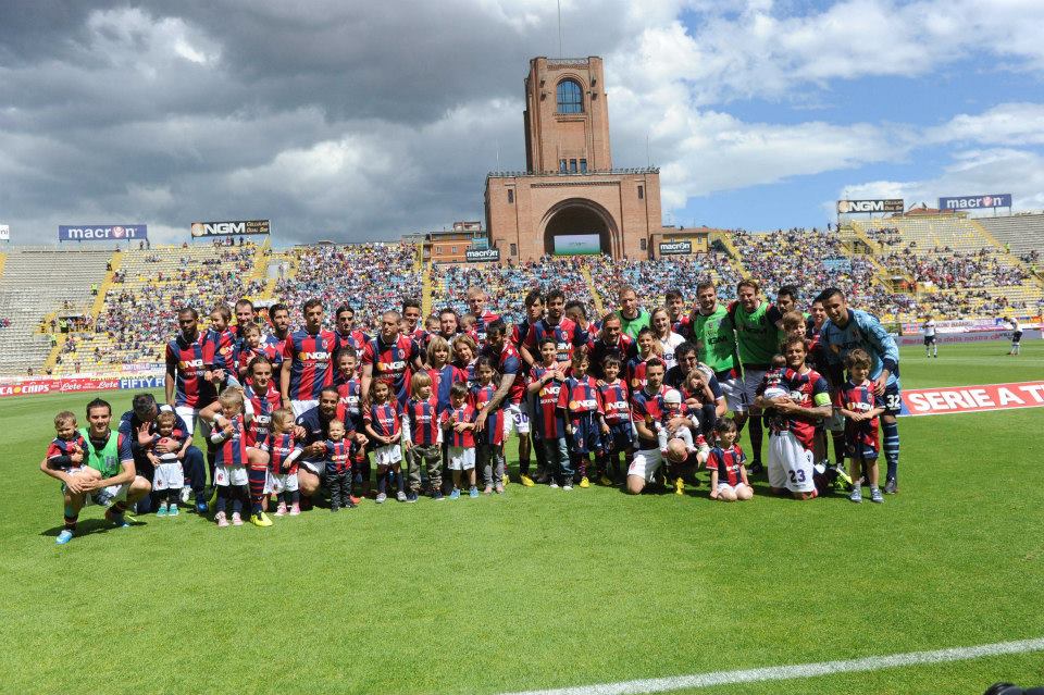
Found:
[{"label": "crouching man in green bib with toddler on knee, far left", "polygon": [[[70,422],[67,415],[71,413],[61,414],[65,418],[55,418],[58,438],[70,440],[73,435],[66,431],[70,425],[75,426],[75,419]],[[86,446],[80,444],[78,447],[69,447],[70,454],[63,455],[69,458],[69,467],[61,466],[64,460],[59,460],[59,464],[54,466],[51,456],[40,463],[44,473],[62,482],[65,528],[54,539],[58,545],[65,545],[73,539],[79,510],[84,505],[94,502],[108,506],[105,520],[117,528],[128,526],[123,513],[152,491],[149,481],[135,472],[130,438],[113,432],[109,427],[111,421],[112,406],[101,398],[96,398],[87,404],[88,426],[79,430],[82,442]]]}]

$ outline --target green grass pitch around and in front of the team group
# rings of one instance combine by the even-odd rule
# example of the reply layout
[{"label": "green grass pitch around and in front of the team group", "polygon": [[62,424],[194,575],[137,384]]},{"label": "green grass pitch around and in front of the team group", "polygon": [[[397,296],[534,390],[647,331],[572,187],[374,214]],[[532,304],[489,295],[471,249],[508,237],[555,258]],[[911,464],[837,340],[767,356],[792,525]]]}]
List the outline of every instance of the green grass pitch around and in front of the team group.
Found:
[{"label": "green grass pitch around and in front of the team group", "polygon": [[[1044,345],[903,351],[908,388],[1044,374]],[[129,393],[109,393],[116,414]],[[142,517],[64,547],[52,415],[0,401],[0,690],[500,693],[1044,635],[1044,409],[906,418],[900,494],[749,504],[517,484],[217,530]],[[513,454],[513,447],[512,447]],[[514,462],[514,457],[510,457]],[[701,474],[705,476],[705,474]],[[706,480],[706,477],[705,477]],[[712,688],[981,693],[1044,654]]]}]

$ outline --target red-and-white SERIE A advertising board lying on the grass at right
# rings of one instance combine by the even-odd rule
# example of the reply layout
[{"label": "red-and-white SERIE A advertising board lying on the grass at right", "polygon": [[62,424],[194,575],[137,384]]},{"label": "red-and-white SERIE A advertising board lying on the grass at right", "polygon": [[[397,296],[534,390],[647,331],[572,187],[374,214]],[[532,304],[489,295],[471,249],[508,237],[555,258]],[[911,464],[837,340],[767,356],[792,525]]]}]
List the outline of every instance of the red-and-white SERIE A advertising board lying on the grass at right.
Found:
[{"label": "red-and-white SERIE A advertising board lying on the grass at right", "polygon": [[1044,406],[1044,382],[986,384],[903,392],[904,415],[945,415],[954,412],[1014,410]]}]

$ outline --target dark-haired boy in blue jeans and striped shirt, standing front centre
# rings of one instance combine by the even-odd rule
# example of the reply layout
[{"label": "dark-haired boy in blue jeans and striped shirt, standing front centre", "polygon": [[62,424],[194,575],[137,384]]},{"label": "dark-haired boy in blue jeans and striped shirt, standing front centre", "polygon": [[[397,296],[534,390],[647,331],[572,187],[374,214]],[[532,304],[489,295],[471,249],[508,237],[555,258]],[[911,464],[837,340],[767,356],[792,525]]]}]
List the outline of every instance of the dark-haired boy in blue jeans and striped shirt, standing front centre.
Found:
[{"label": "dark-haired boy in blue jeans and striped shirt, standing front centre", "polygon": [[[540,363],[530,370],[530,385],[526,387],[535,396],[533,432],[537,444],[544,447],[547,482],[551,487],[558,487],[561,482],[563,489],[569,491],[573,488],[573,469],[569,460],[563,411],[558,409],[566,375],[558,365],[558,344],[555,338],[546,335],[537,347]],[[544,482],[544,479],[539,482]]]}]

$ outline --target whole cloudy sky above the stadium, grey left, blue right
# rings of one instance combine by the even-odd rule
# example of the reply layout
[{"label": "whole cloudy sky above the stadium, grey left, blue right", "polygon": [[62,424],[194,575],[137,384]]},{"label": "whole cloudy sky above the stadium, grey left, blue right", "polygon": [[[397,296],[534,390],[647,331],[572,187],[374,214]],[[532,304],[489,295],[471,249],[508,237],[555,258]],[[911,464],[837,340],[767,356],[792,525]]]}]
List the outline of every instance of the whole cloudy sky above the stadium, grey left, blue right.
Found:
[{"label": "whole cloudy sky above the stadium, grey left, blue right", "polygon": [[[619,166],[664,223],[822,225],[833,201],[1011,193],[1044,208],[1044,2],[562,0],[601,55]],[[482,219],[522,169],[555,0],[0,4],[0,223],[269,218],[274,241]],[[648,139],[649,148],[646,150]]]}]

